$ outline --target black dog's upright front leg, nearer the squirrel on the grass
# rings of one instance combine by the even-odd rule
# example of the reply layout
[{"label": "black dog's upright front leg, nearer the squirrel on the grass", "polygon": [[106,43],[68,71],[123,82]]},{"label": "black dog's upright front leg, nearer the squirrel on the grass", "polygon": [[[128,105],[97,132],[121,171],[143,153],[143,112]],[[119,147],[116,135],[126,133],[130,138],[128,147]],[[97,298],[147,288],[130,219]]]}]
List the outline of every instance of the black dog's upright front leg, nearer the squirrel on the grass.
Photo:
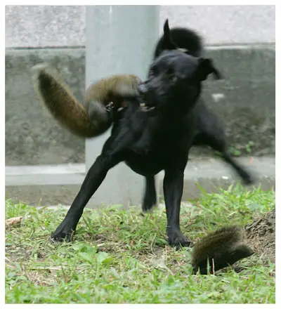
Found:
[{"label": "black dog's upright front leg, nearer the squirrel on the grass", "polygon": [[167,235],[171,246],[190,246],[192,242],[183,235],[180,228],[181,197],[183,195],[183,171],[165,170],[164,199],[167,217]]}]

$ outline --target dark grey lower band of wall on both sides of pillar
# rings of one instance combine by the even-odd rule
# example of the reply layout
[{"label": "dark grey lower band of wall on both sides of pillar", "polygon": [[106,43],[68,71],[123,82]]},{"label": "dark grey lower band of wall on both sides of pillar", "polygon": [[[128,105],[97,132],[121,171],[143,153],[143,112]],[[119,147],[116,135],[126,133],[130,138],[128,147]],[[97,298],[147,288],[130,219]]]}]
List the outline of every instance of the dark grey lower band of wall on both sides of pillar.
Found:
[{"label": "dark grey lower band of wall on both sides of pillar", "polygon": [[[275,154],[274,46],[211,48],[207,55],[225,79],[210,78],[203,96],[224,120],[229,145],[241,155]],[[83,96],[84,48],[6,50],[6,165],[84,162],[84,140],[60,127],[35,96],[30,67],[42,61],[58,67],[74,95]],[[191,158],[206,155],[192,150]]]}]

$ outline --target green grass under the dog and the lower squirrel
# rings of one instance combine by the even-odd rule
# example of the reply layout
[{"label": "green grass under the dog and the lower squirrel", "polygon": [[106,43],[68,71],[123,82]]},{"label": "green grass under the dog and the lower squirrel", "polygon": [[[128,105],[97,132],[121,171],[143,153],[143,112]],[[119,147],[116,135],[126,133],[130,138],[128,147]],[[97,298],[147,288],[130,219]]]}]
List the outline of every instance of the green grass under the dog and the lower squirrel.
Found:
[{"label": "green grass under the dog and the lower squirrel", "polygon": [[[181,227],[196,240],[225,224],[250,222],[275,208],[275,192],[237,187],[204,194],[181,209]],[[49,236],[65,209],[6,201],[6,303],[275,303],[275,265],[259,256],[214,275],[191,275],[191,249],[166,246],[162,209],[85,209],[74,242]]]}]

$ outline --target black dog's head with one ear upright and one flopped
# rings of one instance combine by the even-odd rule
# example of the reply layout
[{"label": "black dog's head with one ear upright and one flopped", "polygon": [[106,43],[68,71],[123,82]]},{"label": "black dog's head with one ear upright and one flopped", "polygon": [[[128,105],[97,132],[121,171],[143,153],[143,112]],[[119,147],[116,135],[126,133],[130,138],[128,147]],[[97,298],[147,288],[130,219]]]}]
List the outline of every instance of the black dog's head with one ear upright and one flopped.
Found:
[{"label": "black dog's head with one ear upright and one flopped", "polygon": [[[143,110],[152,111],[177,104],[180,110],[192,107],[200,95],[201,82],[220,73],[209,58],[197,58],[178,50],[171,39],[169,23],[164,25],[165,50],[150,65],[148,79],[138,86]],[[175,106],[174,106],[175,107]],[[174,108],[172,107],[172,108]]]}]

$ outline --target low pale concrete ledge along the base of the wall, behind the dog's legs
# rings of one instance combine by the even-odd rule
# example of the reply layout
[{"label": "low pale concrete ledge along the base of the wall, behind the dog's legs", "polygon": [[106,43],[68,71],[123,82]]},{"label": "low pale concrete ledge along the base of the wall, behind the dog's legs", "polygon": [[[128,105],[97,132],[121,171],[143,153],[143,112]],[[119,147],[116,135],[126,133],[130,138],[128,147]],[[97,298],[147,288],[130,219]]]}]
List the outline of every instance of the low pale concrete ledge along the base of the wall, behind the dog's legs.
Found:
[{"label": "low pale concrete ledge along the base of the wall, behind the dog's legs", "polygon": [[[240,158],[239,161],[256,176],[255,186],[261,185],[263,190],[275,188],[275,157],[247,157]],[[6,198],[37,206],[70,205],[84,176],[84,164],[6,166]],[[163,195],[163,177],[164,173],[159,173],[157,188],[160,196]],[[220,159],[192,159],[185,169],[183,200],[195,199],[201,195],[197,183],[207,192],[217,192],[218,188],[228,188],[236,181],[233,170]],[[134,188],[139,191],[135,201],[130,201],[129,195],[119,194],[121,191],[130,192],[131,187],[133,184],[129,182],[117,181],[116,187],[109,189],[110,192],[117,193],[114,204],[141,204],[143,188]],[[95,203],[95,195],[88,206],[100,206]]]}]

